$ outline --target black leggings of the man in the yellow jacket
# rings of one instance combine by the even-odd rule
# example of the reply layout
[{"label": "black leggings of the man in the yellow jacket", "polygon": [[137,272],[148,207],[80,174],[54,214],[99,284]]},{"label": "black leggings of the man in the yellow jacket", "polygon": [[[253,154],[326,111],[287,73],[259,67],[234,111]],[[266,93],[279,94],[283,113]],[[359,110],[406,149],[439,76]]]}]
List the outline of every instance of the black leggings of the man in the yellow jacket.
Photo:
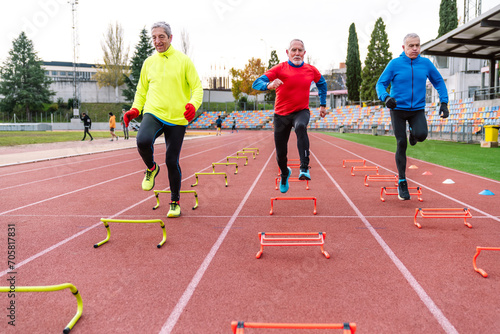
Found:
[{"label": "black leggings of the man in the yellow jacket", "polygon": [[165,163],[167,164],[168,181],[170,183],[170,197],[172,201],[178,201],[180,199],[182,179],[179,156],[181,154],[186,127],[182,125],[165,125],[153,115],[144,114],[141,127],[137,133],[137,150],[148,169],[153,168],[155,164],[154,143],[156,138],[161,136],[162,133],[165,136],[165,144],[167,146]]}]

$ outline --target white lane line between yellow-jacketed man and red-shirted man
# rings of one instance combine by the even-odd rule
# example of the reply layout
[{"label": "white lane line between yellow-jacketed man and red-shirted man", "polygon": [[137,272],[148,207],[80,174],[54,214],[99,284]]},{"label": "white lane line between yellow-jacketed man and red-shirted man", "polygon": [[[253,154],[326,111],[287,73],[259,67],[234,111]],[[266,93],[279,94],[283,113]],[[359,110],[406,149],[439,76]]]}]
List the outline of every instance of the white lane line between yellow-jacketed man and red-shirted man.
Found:
[{"label": "white lane line between yellow-jacketed man and red-shirted man", "polygon": [[215,257],[215,254],[217,253],[220,245],[222,244],[222,242],[226,238],[226,235],[229,233],[229,230],[231,229],[231,226],[233,226],[234,221],[236,220],[236,218],[238,218],[238,215],[240,214],[241,210],[243,209],[243,205],[245,205],[246,201],[248,200],[248,197],[250,197],[250,194],[252,193],[253,189],[257,185],[257,182],[259,181],[260,177],[262,176],[262,173],[266,169],[266,167],[269,164],[269,161],[271,160],[271,157],[273,155],[274,155],[274,150],[271,153],[271,155],[269,155],[269,158],[267,158],[266,164],[264,165],[264,167],[262,167],[262,170],[260,171],[259,175],[255,178],[255,181],[253,182],[250,189],[248,189],[245,197],[240,202],[240,205],[238,206],[238,208],[236,209],[234,214],[231,216],[231,219],[229,220],[227,225],[224,227],[224,230],[219,235],[219,238],[214,243],[214,245],[210,249],[210,252],[207,254],[207,256],[203,260],[202,264],[200,265],[200,267],[196,271],[196,274],[193,276],[193,279],[191,280],[188,287],[186,288],[186,290],[182,294],[181,298],[177,302],[177,305],[175,305],[172,313],[170,313],[170,316],[168,317],[167,321],[162,326],[162,328],[160,330],[160,334],[170,333],[172,331],[172,329],[175,327],[175,325],[177,324],[177,320],[179,320],[179,317],[181,316],[182,312],[184,311],[184,308],[186,307],[187,303],[191,299],[191,296],[193,295],[194,290],[196,289],[196,287],[200,283],[203,275],[205,274],[205,271],[207,271],[208,266],[210,265],[213,258]]}]

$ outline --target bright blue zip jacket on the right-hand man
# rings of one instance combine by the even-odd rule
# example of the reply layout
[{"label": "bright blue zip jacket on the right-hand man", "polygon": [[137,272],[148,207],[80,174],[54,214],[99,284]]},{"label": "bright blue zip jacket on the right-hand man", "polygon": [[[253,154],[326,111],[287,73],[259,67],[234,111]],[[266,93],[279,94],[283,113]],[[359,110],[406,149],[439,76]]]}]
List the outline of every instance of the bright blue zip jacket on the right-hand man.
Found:
[{"label": "bright blue zip jacket on the right-hand man", "polygon": [[[425,108],[426,82],[430,80],[437,89],[441,102],[448,103],[448,91],[443,77],[434,64],[420,57],[411,59],[404,52],[387,64],[377,81],[377,95],[381,101],[387,96],[396,99],[397,110],[422,110]],[[387,87],[391,85],[391,93]]]}]

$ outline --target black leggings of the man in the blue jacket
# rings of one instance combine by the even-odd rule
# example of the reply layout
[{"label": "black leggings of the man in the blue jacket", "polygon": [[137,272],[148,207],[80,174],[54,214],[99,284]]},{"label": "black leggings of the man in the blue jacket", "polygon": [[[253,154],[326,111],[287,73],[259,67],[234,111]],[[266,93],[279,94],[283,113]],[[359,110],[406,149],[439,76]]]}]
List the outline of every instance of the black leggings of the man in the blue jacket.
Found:
[{"label": "black leggings of the man in the blue jacket", "polygon": [[424,110],[405,111],[391,109],[391,123],[394,129],[394,136],[397,141],[396,166],[398,167],[399,179],[406,178],[406,121],[411,128],[411,133],[417,141],[424,141],[427,138],[427,119]]}]

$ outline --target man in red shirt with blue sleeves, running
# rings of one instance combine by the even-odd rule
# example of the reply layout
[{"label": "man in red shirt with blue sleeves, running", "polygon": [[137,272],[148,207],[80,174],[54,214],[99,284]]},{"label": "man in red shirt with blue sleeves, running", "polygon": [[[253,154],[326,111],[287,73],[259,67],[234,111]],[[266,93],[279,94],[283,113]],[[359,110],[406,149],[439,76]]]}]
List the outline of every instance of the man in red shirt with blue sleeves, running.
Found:
[{"label": "man in red shirt with blue sleeves, running", "polygon": [[276,160],[281,171],[280,191],[286,193],[292,169],[287,167],[288,139],[292,127],[297,136],[300,157],[300,180],[310,180],[309,174],[309,89],[315,82],[319,90],[320,116],[326,115],[326,81],[316,67],[304,63],[306,49],[304,42],[294,39],[290,42],[288,61],[278,64],[255,80],[252,88],[265,91],[276,89],[274,106],[274,143]]}]

